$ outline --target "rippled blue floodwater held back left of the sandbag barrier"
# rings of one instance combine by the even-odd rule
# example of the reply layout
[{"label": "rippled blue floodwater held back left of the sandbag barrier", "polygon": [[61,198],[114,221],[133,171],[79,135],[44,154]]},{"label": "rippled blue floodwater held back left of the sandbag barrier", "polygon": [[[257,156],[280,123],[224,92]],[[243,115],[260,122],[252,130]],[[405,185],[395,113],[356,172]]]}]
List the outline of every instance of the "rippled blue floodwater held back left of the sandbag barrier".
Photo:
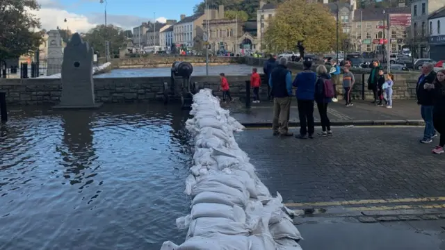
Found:
[{"label": "rippled blue floodwater held back left of the sandbag barrier", "polygon": [[159,249],[191,151],[179,106],[11,108],[0,125],[0,249]]}]

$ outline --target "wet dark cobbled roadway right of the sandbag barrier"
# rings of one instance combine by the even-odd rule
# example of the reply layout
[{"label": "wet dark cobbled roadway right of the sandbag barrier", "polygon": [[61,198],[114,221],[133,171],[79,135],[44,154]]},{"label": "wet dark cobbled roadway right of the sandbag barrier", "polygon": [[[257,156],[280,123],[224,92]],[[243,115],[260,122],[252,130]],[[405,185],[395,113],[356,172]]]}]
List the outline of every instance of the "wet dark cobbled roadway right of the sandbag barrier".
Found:
[{"label": "wet dark cobbled roadway right of the sandbag barrier", "polygon": [[285,203],[445,197],[445,155],[431,153],[434,143],[419,144],[422,128],[333,131],[330,138],[298,140],[246,130],[236,140]]}]

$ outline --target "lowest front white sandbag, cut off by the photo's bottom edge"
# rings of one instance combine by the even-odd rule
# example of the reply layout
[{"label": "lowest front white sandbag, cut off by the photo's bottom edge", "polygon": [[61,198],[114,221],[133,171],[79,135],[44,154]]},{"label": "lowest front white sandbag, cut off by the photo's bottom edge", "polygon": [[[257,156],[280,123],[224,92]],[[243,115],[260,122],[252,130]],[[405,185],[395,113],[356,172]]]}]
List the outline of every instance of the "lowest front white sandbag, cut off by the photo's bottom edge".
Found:
[{"label": "lowest front white sandbag, cut off by the photo's bottom edge", "polygon": [[250,241],[242,235],[212,233],[206,237],[192,237],[176,250],[250,250]]}]

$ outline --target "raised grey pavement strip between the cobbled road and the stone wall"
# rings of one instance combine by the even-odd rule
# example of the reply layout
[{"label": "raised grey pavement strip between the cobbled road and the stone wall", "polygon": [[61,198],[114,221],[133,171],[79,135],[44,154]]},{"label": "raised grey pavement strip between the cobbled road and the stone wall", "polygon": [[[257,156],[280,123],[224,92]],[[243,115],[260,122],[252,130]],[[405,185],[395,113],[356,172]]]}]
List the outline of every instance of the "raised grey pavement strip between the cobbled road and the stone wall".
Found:
[{"label": "raised grey pavement strip between the cobbled road and the stone wall", "polygon": [[[298,108],[296,100],[292,100],[291,122],[298,122]],[[252,103],[252,108],[246,110],[243,103],[222,104],[231,111],[232,116],[241,123],[272,122],[273,104],[270,102]],[[394,108],[378,107],[369,101],[355,101],[353,107],[345,107],[343,101],[330,103],[328,115],[332,121],[356,120],[407,120],[421,119],[420,108],[415,100],[396,100]],[[316,121],[320,120],[318,110],[314,108]]]}]

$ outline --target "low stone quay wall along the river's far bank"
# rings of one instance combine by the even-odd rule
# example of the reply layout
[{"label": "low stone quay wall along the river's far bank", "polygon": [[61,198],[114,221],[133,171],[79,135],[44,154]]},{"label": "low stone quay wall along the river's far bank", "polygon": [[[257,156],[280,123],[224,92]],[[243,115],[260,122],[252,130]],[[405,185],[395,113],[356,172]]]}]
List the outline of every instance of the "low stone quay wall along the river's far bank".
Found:
[{"label": "low stone quay wall along the river's far bank", "polygon": [[[209,57],[210,65],[230,65],[244,63],[243,57]],[[192,63],[193,66],[202,66],[206,63],[205,56],[147,56],[138,58],[116,58],[112,61],[113,68],[154,68],[154,67],[172,67],[176,61]]]}]

